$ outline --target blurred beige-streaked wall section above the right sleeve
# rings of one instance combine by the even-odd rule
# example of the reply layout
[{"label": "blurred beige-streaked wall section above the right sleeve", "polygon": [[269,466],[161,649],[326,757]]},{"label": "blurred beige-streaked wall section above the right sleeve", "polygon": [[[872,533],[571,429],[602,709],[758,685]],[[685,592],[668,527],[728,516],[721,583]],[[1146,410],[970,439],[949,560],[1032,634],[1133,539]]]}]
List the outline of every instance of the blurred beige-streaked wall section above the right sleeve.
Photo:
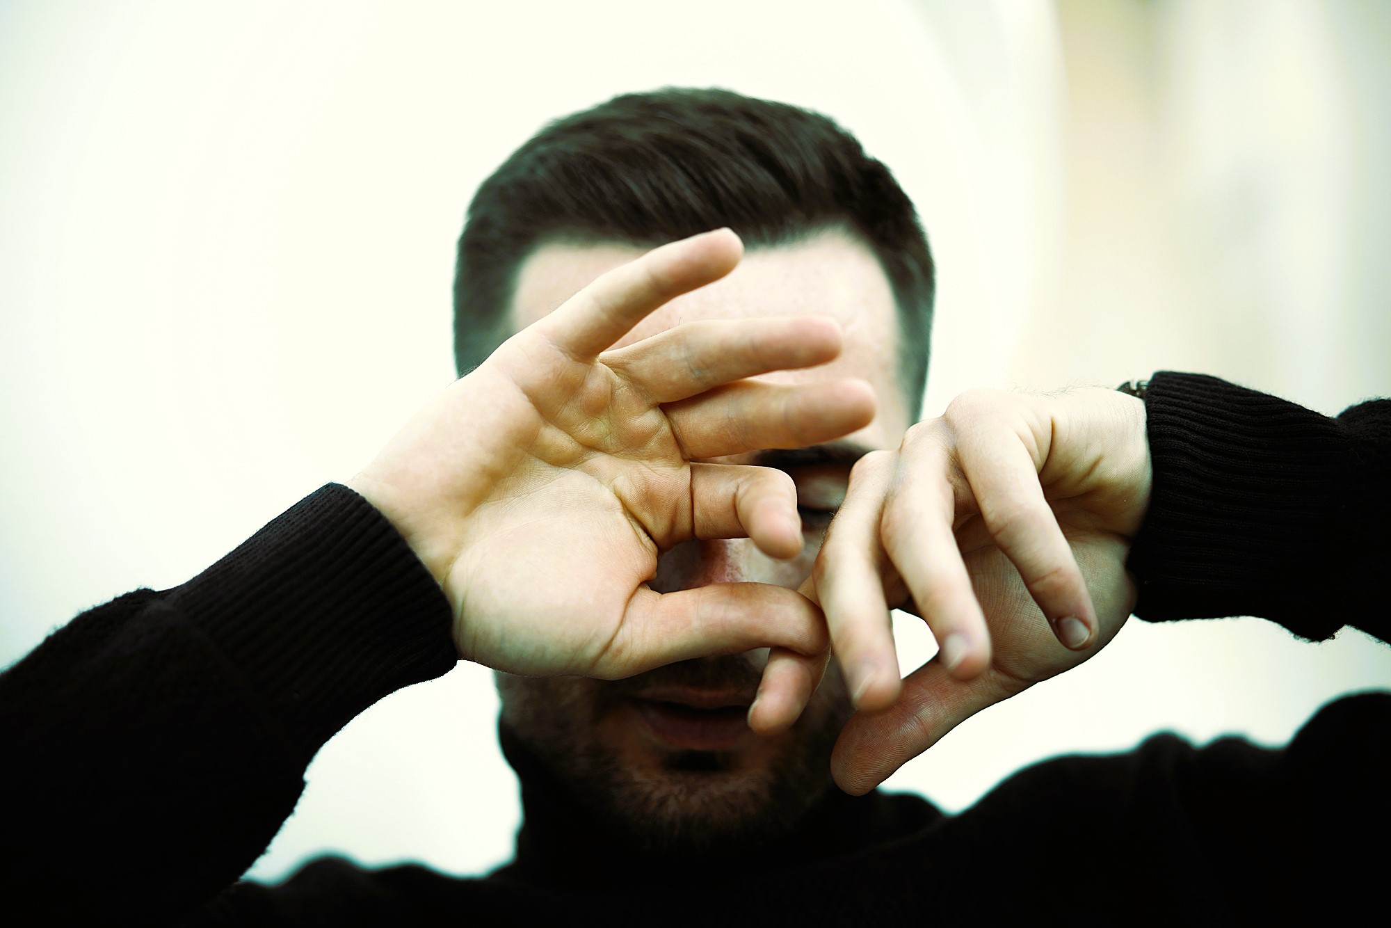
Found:
[{"label": "blurred beige-streaked wall section above the right sleeve", "polygon": [[1057,10],[1061,273],[1011,373],[1205,370],[1326,412],[1387,392],[1387,7]]}]

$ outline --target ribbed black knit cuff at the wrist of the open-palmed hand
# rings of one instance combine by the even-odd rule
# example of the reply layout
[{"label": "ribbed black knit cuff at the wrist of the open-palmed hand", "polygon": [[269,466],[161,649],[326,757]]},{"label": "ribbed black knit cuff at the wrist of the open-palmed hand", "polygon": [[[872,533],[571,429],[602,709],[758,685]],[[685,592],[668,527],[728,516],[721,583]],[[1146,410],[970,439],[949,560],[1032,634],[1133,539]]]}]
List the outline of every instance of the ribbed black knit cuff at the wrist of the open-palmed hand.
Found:
[{"label": "ribbed black knit cuff at the wrist of the open-palmed hand", "polygon": [[392,525],[328,484],[168,591],[307,757],[369,705],[456,662],[451,608]]}]

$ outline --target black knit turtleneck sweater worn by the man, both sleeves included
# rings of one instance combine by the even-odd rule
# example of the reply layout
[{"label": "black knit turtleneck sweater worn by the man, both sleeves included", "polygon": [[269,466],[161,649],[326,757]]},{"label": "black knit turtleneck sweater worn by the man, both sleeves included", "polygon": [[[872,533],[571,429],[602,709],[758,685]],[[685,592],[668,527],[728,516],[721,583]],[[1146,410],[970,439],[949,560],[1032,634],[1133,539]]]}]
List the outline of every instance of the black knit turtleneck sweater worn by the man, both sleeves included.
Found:
[{"label": "black knit turtleneck sweater worn by the man, both sleeves included", "polygon": [[[1159,374],[1155,484],[1131,552],[1149,621],[1262,615],[1388,640],[1391,401],[1326,419]],[[325,858],[238,878],[320,746],[455,664],[449,607],[391,525],[327,486],[193,580],[92,609],[0,676],[0,904],[38,924],[1230,922],[1378,902],[1391,696],[1321,710],[1283,750],[1159,735],[1063,757],[958,815],[835,793],[778,847],[704,864],[608,842],[502,732],[517,858],[490,878]],[[480,799],[485,801],[485,799]]]}]

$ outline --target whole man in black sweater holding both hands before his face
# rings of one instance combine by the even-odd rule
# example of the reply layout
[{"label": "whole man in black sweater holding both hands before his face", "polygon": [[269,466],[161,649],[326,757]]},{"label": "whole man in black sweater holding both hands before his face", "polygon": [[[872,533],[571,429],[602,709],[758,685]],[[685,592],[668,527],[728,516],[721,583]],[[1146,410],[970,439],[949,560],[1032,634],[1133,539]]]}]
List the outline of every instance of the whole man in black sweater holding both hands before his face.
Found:
[{"label": "whole man in black sweater holding both hands before his face", "polygon": [[[644,188],[654,164],[689,196]],[[737,186],[750,177],[790,218]],[[808,206],[815,179],[837,209]],[[675,224],[627,224],[625,191]],[[537,211],[581,195],[602,202]],[[709,202],[733,218],[680,225]],[[1153,618],[1387,633],[1374,572],[1341,552],[1385,552],[1391,403],[1330,422],[1163,374],[1143,403],[968,394],[910,427],[921,373],[904,377],[903,345],[925,333],[931,263],[904,209],[829,124],[725,93],[615,100],[524,146],[460,241],[460,366],[479,366],[351,490],[182,587],[79,616],[0,679],[22,749],[10,794],[29,800],[10,897],[211,924],[1326,911],[1328,881],[1367,860],[1349,838],[1387,824],[1384,696],[1280,753],[1159,737],[1056,760],[958,817],[872,790],[1104,644],[1135,602],[1127,559]],[[643,253],[723,221],[747,256],[726,231]],[[1269,470],[1244,467],[1251,448]],[[1348,488],[1362,506],[1328,505]],[[942,641],[903,682],[899,604]],[[512,675],[517,860],[484,881],[328,860],[228,886],[317,747],[458,657]]]}]

